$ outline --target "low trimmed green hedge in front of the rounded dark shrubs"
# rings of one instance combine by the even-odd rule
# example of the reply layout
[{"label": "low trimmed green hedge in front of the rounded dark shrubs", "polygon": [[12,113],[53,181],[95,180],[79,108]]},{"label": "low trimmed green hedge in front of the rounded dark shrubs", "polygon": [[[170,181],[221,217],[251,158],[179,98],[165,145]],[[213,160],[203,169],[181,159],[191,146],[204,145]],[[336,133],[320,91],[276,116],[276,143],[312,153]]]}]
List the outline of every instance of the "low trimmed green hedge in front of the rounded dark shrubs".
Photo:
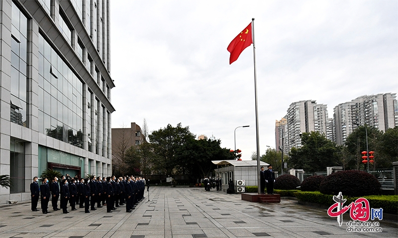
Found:
[{"label": "low trimmed green hedge in front of the rounded dark shrubs", "polygon": [[[295,197],[302,202],[318,203],[326,206],[332,206],[333,195],[322,194],[316,192],[295,192]],[[344,195],[343,195],[344,196]],[[345,206],[357,200],[359,197],[343,197],[347,199],[344,203]],[[383,213],[398,215],[398,195],[371,195],[363,196],[369,201],[370,208],[379,209],[383,208]]]}]

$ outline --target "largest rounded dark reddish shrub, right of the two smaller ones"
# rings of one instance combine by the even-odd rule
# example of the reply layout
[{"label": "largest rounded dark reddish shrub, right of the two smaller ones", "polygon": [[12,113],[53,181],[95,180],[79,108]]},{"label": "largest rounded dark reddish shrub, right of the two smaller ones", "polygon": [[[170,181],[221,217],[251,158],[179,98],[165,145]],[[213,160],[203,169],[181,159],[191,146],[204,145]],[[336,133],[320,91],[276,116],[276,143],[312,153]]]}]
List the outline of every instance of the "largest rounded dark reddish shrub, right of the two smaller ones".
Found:
[{"label": "largest rounded dark reddish shrub, right of the two smaller ones", "polygon": [[319,191],[323,194],[360,197],[366,195],[378,195],[380,182],[375,176],[358,170],[339,171],[330,174],[320,183]]}]

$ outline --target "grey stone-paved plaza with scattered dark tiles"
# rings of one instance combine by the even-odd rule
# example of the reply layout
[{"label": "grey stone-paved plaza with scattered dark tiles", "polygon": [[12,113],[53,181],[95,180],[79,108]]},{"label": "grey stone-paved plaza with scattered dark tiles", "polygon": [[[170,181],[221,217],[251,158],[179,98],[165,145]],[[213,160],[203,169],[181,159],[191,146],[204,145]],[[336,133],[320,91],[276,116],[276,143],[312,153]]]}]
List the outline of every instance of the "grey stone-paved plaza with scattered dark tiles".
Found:
[{"label": "grey stone-paved plaza with scattered dark tiles", "polygon": [[[299,205],[294,200],[280,204],[242,201],[240,195],[212,189],[151,187],[150,200],[142,201],[132,213],[125,207],[113,213],[99,208],[54,212],[32,212],[30,203],[0,208],[1,238],[397,238],[397,221],[380,221],[382,233],[349,233],[344,216],[339,227],[325,209]],[[51,207],[51,206],[50,206]],[[38,204],[40,209],[40,202]],[[377,220],[378,221],[378,220]]]}]

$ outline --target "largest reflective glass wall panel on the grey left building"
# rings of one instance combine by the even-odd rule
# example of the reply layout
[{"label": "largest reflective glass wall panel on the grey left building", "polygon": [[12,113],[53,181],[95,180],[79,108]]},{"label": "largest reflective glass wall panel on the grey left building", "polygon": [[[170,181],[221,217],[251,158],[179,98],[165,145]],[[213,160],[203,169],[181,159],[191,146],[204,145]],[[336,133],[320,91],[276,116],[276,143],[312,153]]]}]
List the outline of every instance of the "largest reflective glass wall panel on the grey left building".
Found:
[{"label": "largest reflective glass wall panel on the grey left building", "polygon": [[83,83],[39,35],[39,132],[83,148]]}]

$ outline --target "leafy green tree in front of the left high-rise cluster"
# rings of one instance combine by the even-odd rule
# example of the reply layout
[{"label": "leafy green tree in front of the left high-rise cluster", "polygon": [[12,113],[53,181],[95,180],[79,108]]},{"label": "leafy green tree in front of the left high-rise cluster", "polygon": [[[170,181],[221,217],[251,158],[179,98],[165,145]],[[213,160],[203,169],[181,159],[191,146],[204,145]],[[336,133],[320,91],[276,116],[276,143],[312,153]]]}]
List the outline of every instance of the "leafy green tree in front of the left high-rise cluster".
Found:
[{"label": "leafy green tree in front of the left high-rise cluster", "polygon": [[318,131],[304,132],[300,148],[290,151],[289,163],[305,172],[324,171],[337,165],[338,146]]}]

